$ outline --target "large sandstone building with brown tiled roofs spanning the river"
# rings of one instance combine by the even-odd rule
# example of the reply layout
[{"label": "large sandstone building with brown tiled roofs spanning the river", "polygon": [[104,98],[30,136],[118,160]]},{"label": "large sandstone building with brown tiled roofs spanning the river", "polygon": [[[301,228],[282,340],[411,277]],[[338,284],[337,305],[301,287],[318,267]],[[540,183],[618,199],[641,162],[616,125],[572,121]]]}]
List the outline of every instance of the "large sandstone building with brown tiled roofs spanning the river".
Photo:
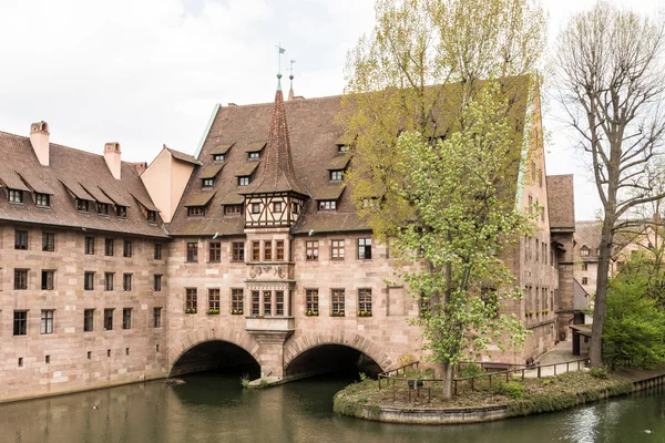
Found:
[{"label": "large sandstone building with brown tiled roofs spanning the river", "polygon": [[[116,143],[103,156],[49,143],[43,122],[30,138],[0,133],[0,401],[418,354],[419,306],[386,282],[393,260],[342,183],[340,101],[285,103],[278,89],[273,103],[217,106],[195,157],[164,146],[150,166],[121,162]],[[525,101],[516,204],[543,210],[505,256],[525,296],[503,309],[533,332],[492,352],[510,363],[554,344],[573,290],[572,176],[546,177],[540,101]]]}]

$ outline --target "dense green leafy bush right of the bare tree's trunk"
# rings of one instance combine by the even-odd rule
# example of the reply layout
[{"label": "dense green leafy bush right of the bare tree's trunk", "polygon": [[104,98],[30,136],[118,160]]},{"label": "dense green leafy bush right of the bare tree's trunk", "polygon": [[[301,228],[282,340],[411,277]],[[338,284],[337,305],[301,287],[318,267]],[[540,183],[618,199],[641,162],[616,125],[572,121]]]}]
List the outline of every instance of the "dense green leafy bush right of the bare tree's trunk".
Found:
[{"label": "dense green leafy bush right of the bare tree's trunk", "polygon": [[665,362],[665,311],[648,290],[646,275],[620,276],[610,284],[603,358],[612,367],[628,360],[641,368]]}]

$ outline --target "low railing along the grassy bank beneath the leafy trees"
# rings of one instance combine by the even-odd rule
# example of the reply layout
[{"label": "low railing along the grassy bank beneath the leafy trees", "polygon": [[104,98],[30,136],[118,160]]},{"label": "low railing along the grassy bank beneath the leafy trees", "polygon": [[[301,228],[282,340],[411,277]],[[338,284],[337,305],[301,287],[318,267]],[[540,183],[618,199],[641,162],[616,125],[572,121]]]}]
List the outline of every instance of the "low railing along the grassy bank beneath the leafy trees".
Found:
[{"label": "low railing along the grassy bank beneath the leafy trees", "polygon": [[[557,368],[561,368],[561,370],[559,371],[559,373],[564,373],[564,372],[570,372],[571,370],[571,365],[573,365],[573,368],[575,368],[576,365],[576,370],[579,371],[582,368],[582,363],[584,363],[584,365],[586,367],[589,362],[589,359],[584,358],[584,359],[577,359],[577,360],[571,360],[571,361],[564,361],[561,363],[550,363],[550,364],[536,364],[536,365],[531,365],[531,367],[526,367],[523,364],[510,364],[511,367],[521,367],[519,369],[510,369],[510,370],[505,370],[505,371],[498,371],[498,372],[487,372],[483,374],[479,374],[479,375],[472,375],[472,377],[463,377],[463,378],[458,378],[458,379],[452,379],[452,385],[453,385],[453,392],[454,395],[458,394],[458,385],[459,383],[468,383],[468,385],[470,385],[471,391],[475,390],[475,384],[477,381],[482,381],[482,380],[488,380],[489,381],[489,385],[492,385],[492,381],[495,379],[500,379],[503,380],[503,378],[505,378],[505,381],[510,381],[511,374],[521,374],[521,379],[524,380],[525,378],[542,378],[542,377],[550,377],[550,375],[556,375],[557,373]],[[408,378],[406,377],[407,373],[407,369],[408,368],[412,368],[416,367],[418,368],[418,361],[415,361],[412,363],[409,364],[405,364],[402,367],[392,369],[390,371],[386,371],[386,372],[381,372],[378,375],[378,380],[379,380],[379,390],[381,390],[381,380],[387,380],[388,381],[388,387],[392,388],[392,401],[396,400],[397,396],[397,390],[399,388],[399,384],[401,384],[401,382],[406,382],[407,387],[408,387],[408,393],[409,393],[409,401],[411,401],[411,390],[416,389],[417,391],[417,395],[420,396],[420,390],[421,389],[426,389],[428,391],[428,401],[431,400],[431,390],[439,388],[438,383],[443,382],[443,379],[436,379],[436,378]],[[463,362],[466,364],[470,364],[470,363],[474,363],[478,365],[482,365],[483,362]],[[563,367],[565,367],[565,371],[563,371]],[[549,373],[549,369],[552,368],[552,373]],[[399,377],[399,371],[402,371],[403,377]],[[395,375],[392,375],[392,373],[395,372]],[[385,384],[385,382],[383,382]],[[392,384],[392,385],[391,385]]]}]

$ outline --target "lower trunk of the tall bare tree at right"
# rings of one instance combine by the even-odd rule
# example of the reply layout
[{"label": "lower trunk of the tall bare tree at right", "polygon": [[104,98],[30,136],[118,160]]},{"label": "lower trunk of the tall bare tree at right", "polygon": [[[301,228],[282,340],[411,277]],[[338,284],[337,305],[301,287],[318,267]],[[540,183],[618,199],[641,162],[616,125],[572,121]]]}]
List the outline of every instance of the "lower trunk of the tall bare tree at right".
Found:
[{"label": "lower trunk of the tall bare tree at right", "polygon": [[607,296],[610,256],[614,239],[614,218],[605,216],[601,234],[598,251],[598,274],[596,276],[596,293],[593,306],[593,328],[589,358],[593,368],[603,364],[603,326],[605,323],[605,298]]}]

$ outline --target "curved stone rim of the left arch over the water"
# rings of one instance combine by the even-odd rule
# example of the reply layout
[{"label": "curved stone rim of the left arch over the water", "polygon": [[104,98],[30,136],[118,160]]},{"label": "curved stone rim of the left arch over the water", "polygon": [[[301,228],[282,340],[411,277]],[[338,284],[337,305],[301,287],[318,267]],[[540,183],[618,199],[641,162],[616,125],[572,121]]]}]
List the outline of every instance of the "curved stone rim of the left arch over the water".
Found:
[{"label": "curved stone rim of the left arch over the water", "polygon": [[262,365],[259,344],[258,342],[245,331],[231,330],[222,328],[218,330],[198,330],[191,331],[174,341],[174,344],[168,347],[168,374],[171,375],[173,368],[177,361],[187,351],[196,348],[197,346],[212,341],[222,341],[234,344],[256,360]]}]

